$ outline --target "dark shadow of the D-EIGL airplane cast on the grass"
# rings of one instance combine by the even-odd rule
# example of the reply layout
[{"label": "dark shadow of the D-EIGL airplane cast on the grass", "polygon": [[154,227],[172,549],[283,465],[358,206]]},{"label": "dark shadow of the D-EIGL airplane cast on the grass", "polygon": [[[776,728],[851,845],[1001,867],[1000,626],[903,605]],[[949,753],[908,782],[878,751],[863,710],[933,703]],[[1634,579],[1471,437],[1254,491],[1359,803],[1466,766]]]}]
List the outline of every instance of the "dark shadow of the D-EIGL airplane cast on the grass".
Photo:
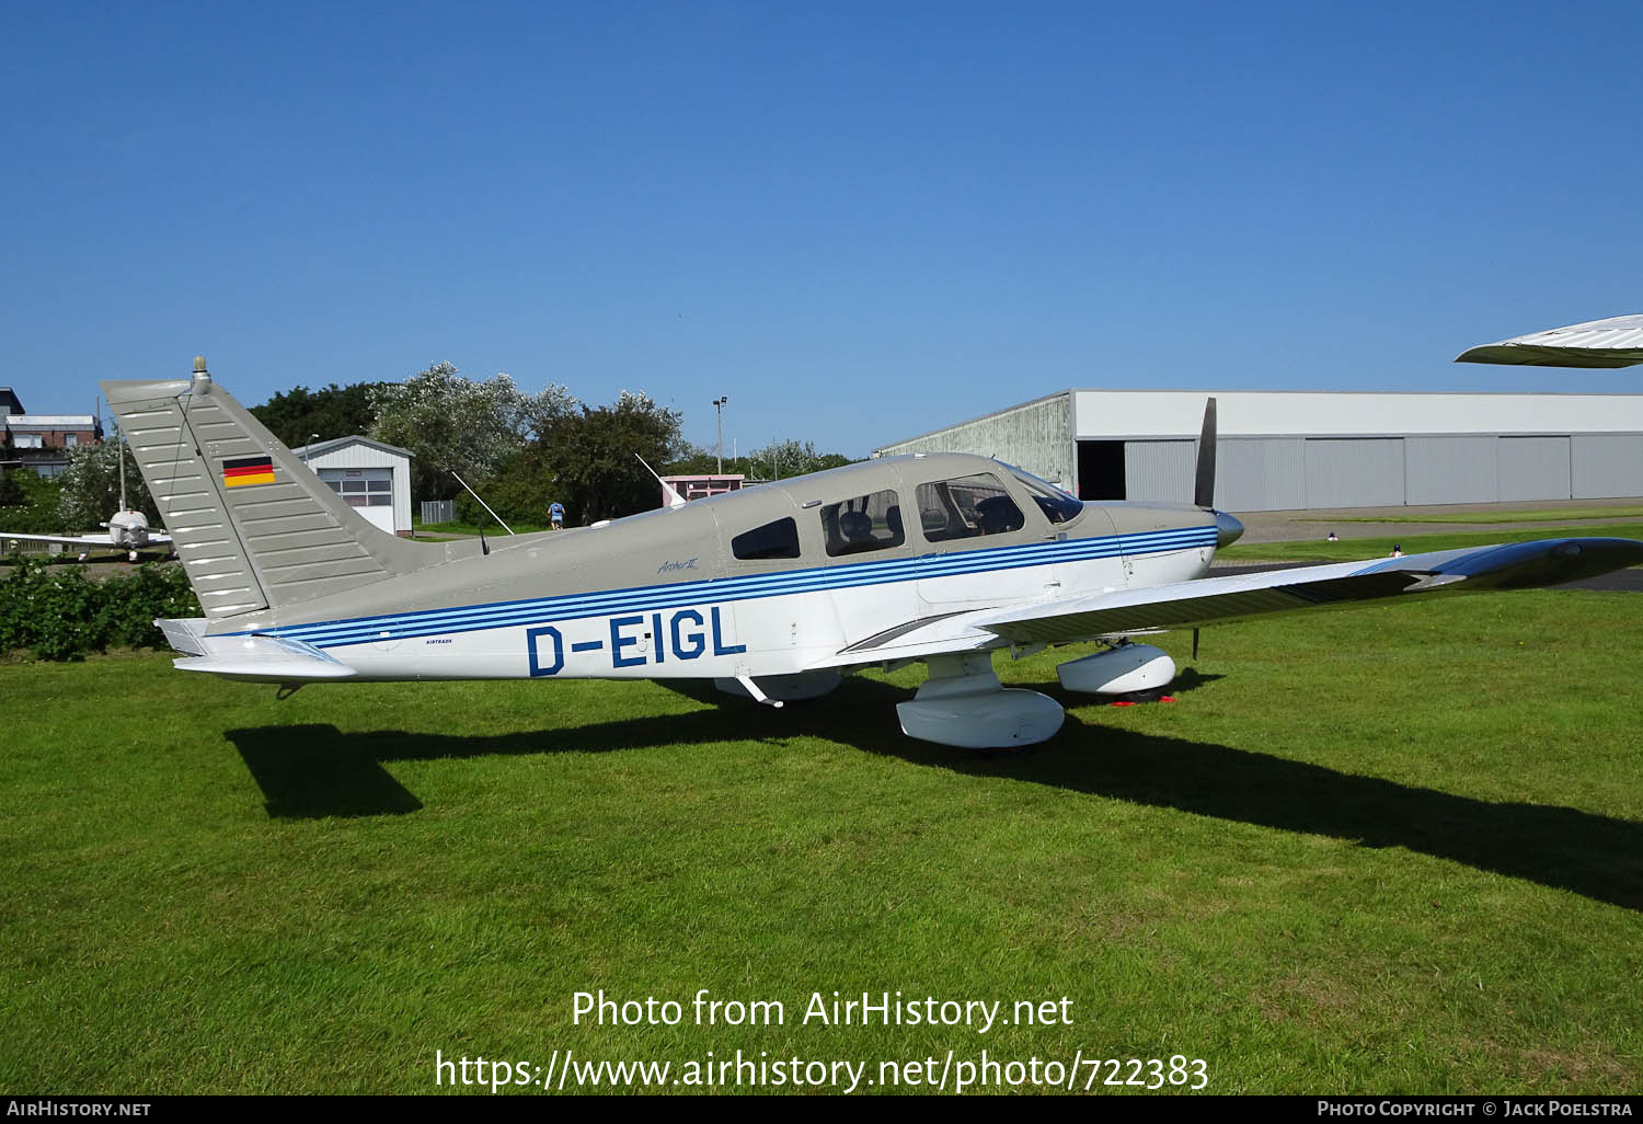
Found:
[{"label": "dark shadow of the D-EIGL airplane cast on the grass", "polygon": [[[1183,675],[1191,690],[1214,677]],[[1086,725],[1068,715],[1061,733],[1029,751],[974,753],[905,738],[894,703],[910,692],[846,679],[826,698],[784,710],[720,695],[710,684],[672,684],[711,710],[629,718],[560,730],[462,736],[330,725],[230,730],[266,797],[268,815],[396,815],[422,807],[384,761],[496,754],[610,753],[647,746],[826,738],[864,753],[966,776],[1009,776],[1239,823],[1403,846],[1480,871],[1567,889],[1643,912],[1643,823],[1566,807],[1492,804],[1474,797],[1362,777],[1252,749]],[[1033,684],[1047,693],[1055,685]],[[1061,697],[1070,705],[1081,697]]]}]

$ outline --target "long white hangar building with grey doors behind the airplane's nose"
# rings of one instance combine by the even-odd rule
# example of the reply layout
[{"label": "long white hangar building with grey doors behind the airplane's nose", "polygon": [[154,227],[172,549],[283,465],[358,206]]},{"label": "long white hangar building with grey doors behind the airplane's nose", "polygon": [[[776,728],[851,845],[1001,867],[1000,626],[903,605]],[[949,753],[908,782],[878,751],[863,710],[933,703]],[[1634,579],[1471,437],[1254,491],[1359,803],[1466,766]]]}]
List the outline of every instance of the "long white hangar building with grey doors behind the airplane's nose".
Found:
[{"label": "long white hangar building with grey doors behind the airplane's nose", "polygon": [[1643,496],[1643,394],[1066,389],[874,455],[974,452],[1081,500],[1188,503],[1211,396],[1222,511]]}]

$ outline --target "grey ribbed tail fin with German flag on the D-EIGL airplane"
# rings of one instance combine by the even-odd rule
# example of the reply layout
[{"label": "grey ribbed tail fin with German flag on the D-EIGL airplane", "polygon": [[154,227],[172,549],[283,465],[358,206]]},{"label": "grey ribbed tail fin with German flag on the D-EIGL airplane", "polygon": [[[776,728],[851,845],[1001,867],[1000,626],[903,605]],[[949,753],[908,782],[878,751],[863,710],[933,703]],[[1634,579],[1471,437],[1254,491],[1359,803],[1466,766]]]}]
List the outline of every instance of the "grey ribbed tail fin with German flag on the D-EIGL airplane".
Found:
[{"label": "grey ribbed tail fin with German flag on the D-EIGL airplane", "polygon": [[371,526],[212,383],[102,385],[209,621],[279,610],[439,559]]}]

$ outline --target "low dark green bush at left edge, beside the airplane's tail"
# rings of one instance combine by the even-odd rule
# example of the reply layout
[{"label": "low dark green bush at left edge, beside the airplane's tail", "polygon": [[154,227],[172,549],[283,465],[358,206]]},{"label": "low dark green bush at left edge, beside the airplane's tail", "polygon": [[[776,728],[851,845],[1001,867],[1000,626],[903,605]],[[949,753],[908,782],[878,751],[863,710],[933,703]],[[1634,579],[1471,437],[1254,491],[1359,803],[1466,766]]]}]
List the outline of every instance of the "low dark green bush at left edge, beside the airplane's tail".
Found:
[{"label": "low dark green bush at left edge, beside the airplane's tail", "polygon": [[182,567],[150,562],[94,582],[79,567],[23,560],[0,580],[0,651],[85,659],[108,647],[164,647],[158,618],[200,616]]}]

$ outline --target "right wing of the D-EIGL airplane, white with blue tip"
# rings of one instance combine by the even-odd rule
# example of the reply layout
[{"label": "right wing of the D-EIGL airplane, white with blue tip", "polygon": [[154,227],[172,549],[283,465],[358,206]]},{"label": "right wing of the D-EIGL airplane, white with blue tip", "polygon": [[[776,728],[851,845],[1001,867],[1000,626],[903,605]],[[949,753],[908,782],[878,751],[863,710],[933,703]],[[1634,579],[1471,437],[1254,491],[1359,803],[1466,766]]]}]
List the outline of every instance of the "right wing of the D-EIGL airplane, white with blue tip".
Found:
[{"label": "right wing of the D-EIGL airplane, white with blue tip", "polygon": [[1539,539],[1401,559],[1208,577],[909,621],[853,644],[815,667],[923,659],[1004,644],[1070,644],[1124,633],[1198,628],[1267,613],[1339,608],[1436,590],[1562,585],[1638,564],[1643,564],[1643,542],[1631,539]]}]

